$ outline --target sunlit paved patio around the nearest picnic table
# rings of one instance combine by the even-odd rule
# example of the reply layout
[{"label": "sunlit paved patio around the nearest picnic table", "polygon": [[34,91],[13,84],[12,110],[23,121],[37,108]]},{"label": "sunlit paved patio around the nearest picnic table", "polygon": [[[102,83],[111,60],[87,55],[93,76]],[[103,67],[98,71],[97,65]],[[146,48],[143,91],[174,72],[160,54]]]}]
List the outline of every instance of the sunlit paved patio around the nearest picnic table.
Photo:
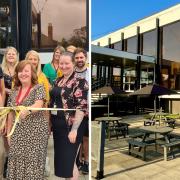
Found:
[{"label": "sunlit paved patio around the nearest picnic table", "polygon": [[[143,125],[143,116],[132,116],[126,119],[130,126],[130,133]],[[177,121],[180,124],[180,120]],[[178,125],[173,131],[180,134]],[[128,155],[128,138],[106,140],[104,179],[122,180],[179,180],[180,156],[167,162],[163,160],[162,148],[158,152],[148,150],[148,160]],[[96,163],[92,161],[92,179],[96,176]]]}]

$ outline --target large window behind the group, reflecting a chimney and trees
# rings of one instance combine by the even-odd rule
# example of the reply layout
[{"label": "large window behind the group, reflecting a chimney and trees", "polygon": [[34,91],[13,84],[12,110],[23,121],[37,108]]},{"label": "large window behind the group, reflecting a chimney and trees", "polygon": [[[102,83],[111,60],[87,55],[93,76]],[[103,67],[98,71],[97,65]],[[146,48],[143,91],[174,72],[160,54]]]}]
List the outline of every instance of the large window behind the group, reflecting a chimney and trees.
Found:
[{"label": "large window behind the group, reflecting a chimney and trees", "polygon": [[85,47],[86,0],[32,0],[32,47]]}]

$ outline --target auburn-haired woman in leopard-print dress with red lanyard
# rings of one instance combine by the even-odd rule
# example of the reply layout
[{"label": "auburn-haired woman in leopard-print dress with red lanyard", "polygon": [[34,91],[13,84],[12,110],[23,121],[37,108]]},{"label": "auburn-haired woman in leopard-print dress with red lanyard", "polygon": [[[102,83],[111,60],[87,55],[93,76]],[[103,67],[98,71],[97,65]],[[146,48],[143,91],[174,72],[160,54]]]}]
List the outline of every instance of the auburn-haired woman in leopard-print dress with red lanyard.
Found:
[{"label": "auburn-haired woman in leopard-print dress with red lanyard", "polygon": [[[36,71],[29,61],[21,61],[15,70],[15,87],[8,106],[42,108],[45,90],[37,84]],[[14,113],[8,115],[7,133],[14,123]],[[48,143],[48,121],[43,111],[22,110],[20,123],[9,139],[9,180],[43,180]]]}]

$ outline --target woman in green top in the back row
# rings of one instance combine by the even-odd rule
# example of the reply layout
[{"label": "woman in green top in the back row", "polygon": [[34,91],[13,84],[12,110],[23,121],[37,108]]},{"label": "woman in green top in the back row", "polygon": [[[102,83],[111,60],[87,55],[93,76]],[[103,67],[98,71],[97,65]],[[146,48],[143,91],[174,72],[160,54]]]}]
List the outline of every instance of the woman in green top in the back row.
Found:
[{"label": "woman in green top in the back row", "polygon": [[43,73],[46,75],[51,85],[54,84],[54,81],[56,80],[57,77],[62,76],[62,72],[59,70],[59,59],[60,59],[60,55],[63,52],[65,52],[65,49],[62,46],[57,46],[54,49],[52,61],[48,64],[45,64],[43,68]]}]

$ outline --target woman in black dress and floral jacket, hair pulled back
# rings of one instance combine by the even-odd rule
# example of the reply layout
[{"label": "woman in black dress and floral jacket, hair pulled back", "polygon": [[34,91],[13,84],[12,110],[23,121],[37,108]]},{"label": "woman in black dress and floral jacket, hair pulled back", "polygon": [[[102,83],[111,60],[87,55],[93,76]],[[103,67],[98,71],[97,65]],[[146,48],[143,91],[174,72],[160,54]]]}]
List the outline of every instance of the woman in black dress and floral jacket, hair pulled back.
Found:
[{"label": "woman in black dress and floral jacket, hair pulled back", "polygon": [[74,72],[72,53],[61,54],[59,68],[63,77],[57,79],[50,93],[51,107],[64,109],[51,111],[55,175],[77,180],[79,172],[75,162],[83,137],[83,118],[87,115],[88,85]]}]

